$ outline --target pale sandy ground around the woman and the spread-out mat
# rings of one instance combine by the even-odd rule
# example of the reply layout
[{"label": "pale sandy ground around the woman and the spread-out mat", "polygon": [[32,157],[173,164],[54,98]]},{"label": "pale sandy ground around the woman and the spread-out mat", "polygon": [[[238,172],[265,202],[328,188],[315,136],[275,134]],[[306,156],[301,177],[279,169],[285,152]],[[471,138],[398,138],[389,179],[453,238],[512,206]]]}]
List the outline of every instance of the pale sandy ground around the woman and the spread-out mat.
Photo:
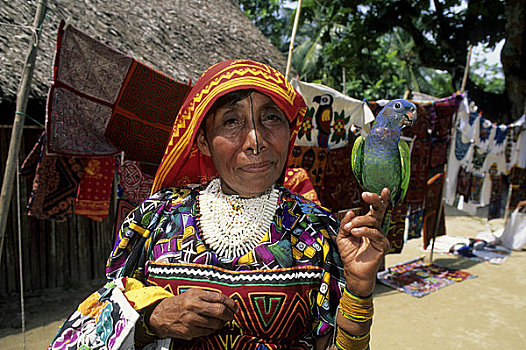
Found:
[{"label": "pale sandy ground around the woman and the spread-out mat", "polygon": [[[503,225],[450,207],[446,214],[451,236],[475,237]],[[411,240],[401,254],[387,256],[386,266],[424,254],[421,240]],[[513,252],[502,265],[442,254],[434,262],[478,277],[422,298],[377,285],[372,349],[526,349],[526,251]],[[26,349],[44,349],[64,318],[101,283],[27,297]],[[23,349],[19,310],[18,299],[0,300],[0,349]]]}]

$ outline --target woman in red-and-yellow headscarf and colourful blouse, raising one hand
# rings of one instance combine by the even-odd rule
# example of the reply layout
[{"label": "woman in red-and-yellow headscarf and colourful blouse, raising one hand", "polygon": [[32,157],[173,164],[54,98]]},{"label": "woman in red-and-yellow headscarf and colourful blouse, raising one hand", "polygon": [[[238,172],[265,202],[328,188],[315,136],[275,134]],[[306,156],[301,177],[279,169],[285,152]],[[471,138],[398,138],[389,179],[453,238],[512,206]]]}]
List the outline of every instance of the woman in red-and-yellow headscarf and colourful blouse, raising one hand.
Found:
[{"label": "woman in red-and-yellow headscarf and colourful blouse, raising one hand", "polygon": [[51,348],[367,348],[389,191],[364,193],[370,212],[340,224],[284,188],[305,109],[264,64],[209,68],[176,118],[152,196],[121,228],[112,282]]}]

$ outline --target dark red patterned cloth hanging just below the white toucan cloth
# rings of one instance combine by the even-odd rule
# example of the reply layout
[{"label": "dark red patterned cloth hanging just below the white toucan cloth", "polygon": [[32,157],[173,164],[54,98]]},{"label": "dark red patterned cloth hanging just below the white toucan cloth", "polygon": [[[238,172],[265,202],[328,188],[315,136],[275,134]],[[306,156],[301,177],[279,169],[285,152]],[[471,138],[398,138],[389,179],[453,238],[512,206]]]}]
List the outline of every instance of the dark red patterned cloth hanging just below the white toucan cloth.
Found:
[{"label": "dark red patterned cloth hanging just below the white toucan cloth", "polygon": [[317,193],[324,193],[323,180],[327,165],[327,149],[321,147],[294,146],[289,157],[289,168],[303,168],[309,174]]}]

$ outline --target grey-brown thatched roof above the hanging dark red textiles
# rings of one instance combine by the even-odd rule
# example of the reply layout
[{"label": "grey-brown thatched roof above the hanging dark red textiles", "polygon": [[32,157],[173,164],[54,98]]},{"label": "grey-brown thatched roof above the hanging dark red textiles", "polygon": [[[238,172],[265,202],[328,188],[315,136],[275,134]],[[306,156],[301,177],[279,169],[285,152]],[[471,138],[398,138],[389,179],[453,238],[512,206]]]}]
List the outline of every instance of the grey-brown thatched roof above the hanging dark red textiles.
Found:
[{"label": "grey-brown thatched roof above the hanging dark red textiles", "polygon": [[[1,0],[0,22],[30,26],[38,1]],[[88,35],[180,81],[214,63],[250,58],[284,72],[285,57],[233,0],[49,0],[30,97],[45,99],[58,24]],[[16,100],[31,31],[0,23],[0,102]]]}]

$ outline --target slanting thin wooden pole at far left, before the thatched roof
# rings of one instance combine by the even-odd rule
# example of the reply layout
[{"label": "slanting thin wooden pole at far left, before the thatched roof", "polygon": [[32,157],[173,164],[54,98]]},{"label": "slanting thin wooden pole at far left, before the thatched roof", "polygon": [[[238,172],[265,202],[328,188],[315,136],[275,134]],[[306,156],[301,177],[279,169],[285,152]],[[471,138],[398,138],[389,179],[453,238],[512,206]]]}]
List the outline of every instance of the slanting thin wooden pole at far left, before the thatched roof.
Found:
[{"label": "slanting thin wooden pole at far left, before the thatched roof", "polygon": [[34,32],[33,35],[31,35],[31,42],[27,50],[26,62],[24,70],[22,71],[22,77],[20,78],[20,85],[16,98],[15,120],[11,132],[11,140],[9,141],[9,152],[7,154],[4,172],[4,182],[2,183],[2,192],[0,194],[0,261],[2,261],[5,228],[7,224],[7,216],[9,214],[9,203],[13,194],[13,180],[18,171],[16,167],[16,159],[19,156],[20,140],[22,138],[22,132],[24,131],[27,99],[31,89],[31,80],[33,78],[33,71],[35,70],[35,60],[38,51],[38,42],[40,39],[42,22],[44,22],[44,17],[46,15],[46,9],[46,0],[39,1],[35,12],[35,19],[33,20]]}]

